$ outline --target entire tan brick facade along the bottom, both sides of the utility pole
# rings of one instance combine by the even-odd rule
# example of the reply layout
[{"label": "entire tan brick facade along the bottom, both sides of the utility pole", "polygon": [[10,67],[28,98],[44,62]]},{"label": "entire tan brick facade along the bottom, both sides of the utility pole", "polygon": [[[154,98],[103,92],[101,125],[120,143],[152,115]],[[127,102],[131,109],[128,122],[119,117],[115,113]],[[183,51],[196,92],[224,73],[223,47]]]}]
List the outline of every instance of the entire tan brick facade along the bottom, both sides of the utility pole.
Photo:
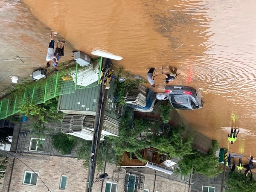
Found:
[{"label": "entire tan brick facade along the bottom, both sides of the utility pole", "polygon": [[[28,165],[33,171],[39,173],[39,177],[48,186],[51,192],[63,191],[59,189],[61,175],[67,176],[66,192],[84,192],[87,180],[87,170],[84,169],[83,162],[71,157],[53,157],[52,161],[43,159],[33,159],[33,156],[23,156],[20,158],[26,165]],[[31,171],[25,164],[15,158],[13,167],[11,182],[9,186],[9,180],[11,176],[11,169],[13,158],[10,157],[7,164],[6,175],[4,177],[3,192],[42,192],[47,191],[47,187],[44,183],[38,179],[36,186],[23,184],[25,171]],[[93,192],[105,192],[106,183],[116,183],[117,192],[124,192],[125,190],[125,172],[119,171],[119,168],[114,164],[107,164],[105,172],[109,178],[105,181],[99,181],[93,183]],[[95,172],[95,177],[97,175]],[[102,173],[100,173],[102,174]],[[172,176],[170,176],[172,177]],[[115,178],[115,179],[113,179]],[[95,180],[95,179],[94,179]],[[117,182],[116,182],[117,181]],[[102,185],[103,183],[103,185]],[[184,182],[178,182],[169,178],[164,178],[154,175],[145,175],[144,189],[149,189],[150,192],[186,192],[188,185]],[[154,190],[155,189],[155,190]],[[138,192],[143,192],[143,189],[139,189]]]}]

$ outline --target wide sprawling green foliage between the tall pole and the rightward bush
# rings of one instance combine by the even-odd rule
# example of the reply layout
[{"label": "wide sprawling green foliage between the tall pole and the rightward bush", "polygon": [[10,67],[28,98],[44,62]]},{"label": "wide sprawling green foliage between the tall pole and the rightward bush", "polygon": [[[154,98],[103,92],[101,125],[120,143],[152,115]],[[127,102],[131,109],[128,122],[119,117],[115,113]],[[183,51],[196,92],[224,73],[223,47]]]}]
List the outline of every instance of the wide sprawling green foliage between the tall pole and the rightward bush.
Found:
[{"label": "wide sprawling green foliage between the tall pole and the rightward bush", "polygon": [[[158,126],[158,124],[157,124]],[[149,134],[140,137],[142,132],[153,130],[154,124],[143,119],[134,119],[133,126],[128,124],[128,118],[124,117],[119,129],[119,137],[110,137],[116,156],[122,157],[124,152],[134,154],[141,161],[145,161],[140,151],[152,147],[161,154],[169,154],[170,157],[182,157],[192,153],[193,137],[183,137],[184,127],[176,126],[169,133],[163,135]]]}]

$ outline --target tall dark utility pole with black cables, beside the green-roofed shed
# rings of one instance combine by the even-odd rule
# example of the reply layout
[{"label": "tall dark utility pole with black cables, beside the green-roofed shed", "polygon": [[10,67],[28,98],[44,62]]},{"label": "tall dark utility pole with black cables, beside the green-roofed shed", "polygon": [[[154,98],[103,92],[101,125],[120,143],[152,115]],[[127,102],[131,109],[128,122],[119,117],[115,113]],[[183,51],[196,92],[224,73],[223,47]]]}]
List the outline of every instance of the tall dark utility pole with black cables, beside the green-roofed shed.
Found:
[{"label": "tall dark utility pole with black cables, beside the green-roofed shed", "polygon": [[106,107],[105,103],[107,101],[107,95],[108,95],[108,89],[105,89],[105,86],[104,86],[104,77],[107,75],[108,70],[111,67],[110,61],[111,59],[104,58],[102,62],[103,76],[102,76],[102,83],[99,86],[98,105],[96,108],[90,163],[88,167],[88,175],[87,175],[87,182],[86,182],[86,189],[85,189],[86,192],[91,192],[92,186],[93,186],[93,178],[94,178],[95,169],[96,169],[98,149],[99,149],[100,138],[102,133],[104,114],[105,114],[105,107]]}]

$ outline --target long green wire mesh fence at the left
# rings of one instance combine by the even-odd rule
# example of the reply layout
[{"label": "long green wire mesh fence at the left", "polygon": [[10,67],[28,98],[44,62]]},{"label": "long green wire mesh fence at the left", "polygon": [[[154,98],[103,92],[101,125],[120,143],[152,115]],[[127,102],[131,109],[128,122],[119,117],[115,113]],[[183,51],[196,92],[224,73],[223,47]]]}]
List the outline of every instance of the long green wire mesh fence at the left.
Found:
[{"label": "long green wire mesh fence at the left", "polygon": [[[101,70],[102,59],[94,59],[93,64],[99,64]],[[36,105],[46,102],[56,96],[74,93],[76,89],[86,89],[98,86],[98,82],[90,84],[87,87],[76,85],[78,70],[82,69],[78,64],[65,70],[59,70],[57,73],[48,75],[47,79],[33,81],[20,88],[18,93],[14,92],[10,96],[0,101],[0,119],[5,119],[15,113],[18,113],[19,106],[24,102],[32,102]],[[100,74],[100,73],[99,73]],[[99,76],[100,78],[100,76]]]}]

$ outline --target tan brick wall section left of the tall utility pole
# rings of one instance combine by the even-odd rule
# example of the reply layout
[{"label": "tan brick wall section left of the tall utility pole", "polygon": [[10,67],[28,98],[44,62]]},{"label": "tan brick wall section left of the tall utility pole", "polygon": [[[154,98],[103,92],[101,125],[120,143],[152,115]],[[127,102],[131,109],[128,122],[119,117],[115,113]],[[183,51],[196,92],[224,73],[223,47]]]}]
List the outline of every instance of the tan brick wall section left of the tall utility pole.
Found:
[{"label": "tan brick wall section left of the tall utility pole", "polygon": [[[87,170],[84,169],[83,162],[76,158],[69,157],[53,157],[52,161],[43,159],[29,159],[26,157],[20,158],[33,171],[39,173],[39,177],[48,186],[51,192],[62,191],[59,189],[61,175],[67,176],[67,184],[65,191],[82,192],[85,188],[87,178]],[[5,180],[3,183],[3,192],[7,192],[9,179],[11,175],[13,158],[9,158]],[[12,179],[9,192],[26,191],[26,192],[42,192],[47,191],[47,187],[38,178],[36,186],[23,184],[25,171],[31,172],[25,164],[15,159]]]}]

